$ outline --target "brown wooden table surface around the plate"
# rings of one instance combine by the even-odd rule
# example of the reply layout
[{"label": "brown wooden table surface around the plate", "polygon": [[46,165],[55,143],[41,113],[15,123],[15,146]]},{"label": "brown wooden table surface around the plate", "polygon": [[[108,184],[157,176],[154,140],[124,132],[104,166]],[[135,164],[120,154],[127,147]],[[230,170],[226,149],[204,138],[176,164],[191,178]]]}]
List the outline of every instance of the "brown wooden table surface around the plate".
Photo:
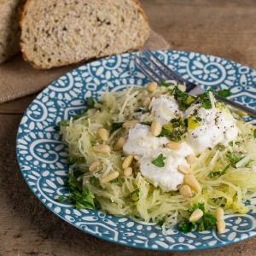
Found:
[{"label": "brown wooden table surface around the plate", "polygon": [[[256,1],[143,0],[151,26],[172,44],[256,68]],[[159,253],[76,230],[49,212],[23,181],[15,156],[20,118],[35,97],[0,105],[0,255],[256,255],[256,238],[229,247]]]}]

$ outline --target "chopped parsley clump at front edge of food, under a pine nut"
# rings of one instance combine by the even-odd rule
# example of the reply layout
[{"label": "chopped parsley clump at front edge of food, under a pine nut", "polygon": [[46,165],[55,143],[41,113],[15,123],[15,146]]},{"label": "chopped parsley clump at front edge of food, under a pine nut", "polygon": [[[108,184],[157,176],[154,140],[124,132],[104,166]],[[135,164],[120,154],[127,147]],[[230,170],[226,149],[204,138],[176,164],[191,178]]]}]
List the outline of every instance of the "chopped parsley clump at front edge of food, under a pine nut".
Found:
[{"label": "chopped parsley clump at front edge of food, under a pine nut", "polygon": [[178,230],[182,231],[183,233],[188,233],[192,230],[204,231],[212,230],[214,227],[216,227],[217,219],[211,213],[205,212],[204,203],[198,203],[191,207],[188,210],[189,215],[191,215],[192,212],[195,212],[196,209],[201,209],[201,211],[204,212],[202,218],[195,223],[189,222],[188,219],[185,219],[182,224],[179,224]]}]

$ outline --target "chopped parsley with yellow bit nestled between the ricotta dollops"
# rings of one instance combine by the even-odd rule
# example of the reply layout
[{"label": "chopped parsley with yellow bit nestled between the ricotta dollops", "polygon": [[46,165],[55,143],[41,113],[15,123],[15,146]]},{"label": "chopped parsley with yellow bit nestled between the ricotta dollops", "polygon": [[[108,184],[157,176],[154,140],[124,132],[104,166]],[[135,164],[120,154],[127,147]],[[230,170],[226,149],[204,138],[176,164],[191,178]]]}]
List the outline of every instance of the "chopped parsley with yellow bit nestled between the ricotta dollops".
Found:
[{"label": "chopped parsley with yellow bit nestled between the ricotta dollops", "polygon": [[173,142],[180,142],[183,140],[187,127],[182,117],[172,119],[169,124],[163,125],[160,137],[169,137]]}]

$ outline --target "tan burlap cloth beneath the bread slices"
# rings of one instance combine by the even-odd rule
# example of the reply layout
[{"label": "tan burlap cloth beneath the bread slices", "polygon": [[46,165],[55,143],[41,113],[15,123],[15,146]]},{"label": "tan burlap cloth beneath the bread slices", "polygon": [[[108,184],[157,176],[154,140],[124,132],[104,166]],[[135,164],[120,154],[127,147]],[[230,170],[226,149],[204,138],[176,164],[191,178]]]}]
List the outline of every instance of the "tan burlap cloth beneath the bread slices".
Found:
[{"label": "tan burlap cloth beneath the bread slices", "polygon": [[[170,45],[159,34],[151,30],[148,49],[169,49]],[[51,81],[82,65],[59,67],[51,70],[38,70],[16,55],[10,61],[0,65],[0,103],[27,96],[44,89]]]}]

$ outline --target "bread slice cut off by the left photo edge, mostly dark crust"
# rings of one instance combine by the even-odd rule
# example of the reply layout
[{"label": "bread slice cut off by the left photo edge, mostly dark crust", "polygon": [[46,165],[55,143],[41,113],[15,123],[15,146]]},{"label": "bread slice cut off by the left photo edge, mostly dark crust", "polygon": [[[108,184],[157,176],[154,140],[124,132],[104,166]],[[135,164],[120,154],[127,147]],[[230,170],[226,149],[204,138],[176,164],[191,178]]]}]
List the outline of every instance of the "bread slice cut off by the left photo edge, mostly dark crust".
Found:
[{"label": "bread slice cut off by the left photo edge, mostly dark crust", "polygon": [[20,51],[19,6],[22,0],[0,0],[0,63]]}]

